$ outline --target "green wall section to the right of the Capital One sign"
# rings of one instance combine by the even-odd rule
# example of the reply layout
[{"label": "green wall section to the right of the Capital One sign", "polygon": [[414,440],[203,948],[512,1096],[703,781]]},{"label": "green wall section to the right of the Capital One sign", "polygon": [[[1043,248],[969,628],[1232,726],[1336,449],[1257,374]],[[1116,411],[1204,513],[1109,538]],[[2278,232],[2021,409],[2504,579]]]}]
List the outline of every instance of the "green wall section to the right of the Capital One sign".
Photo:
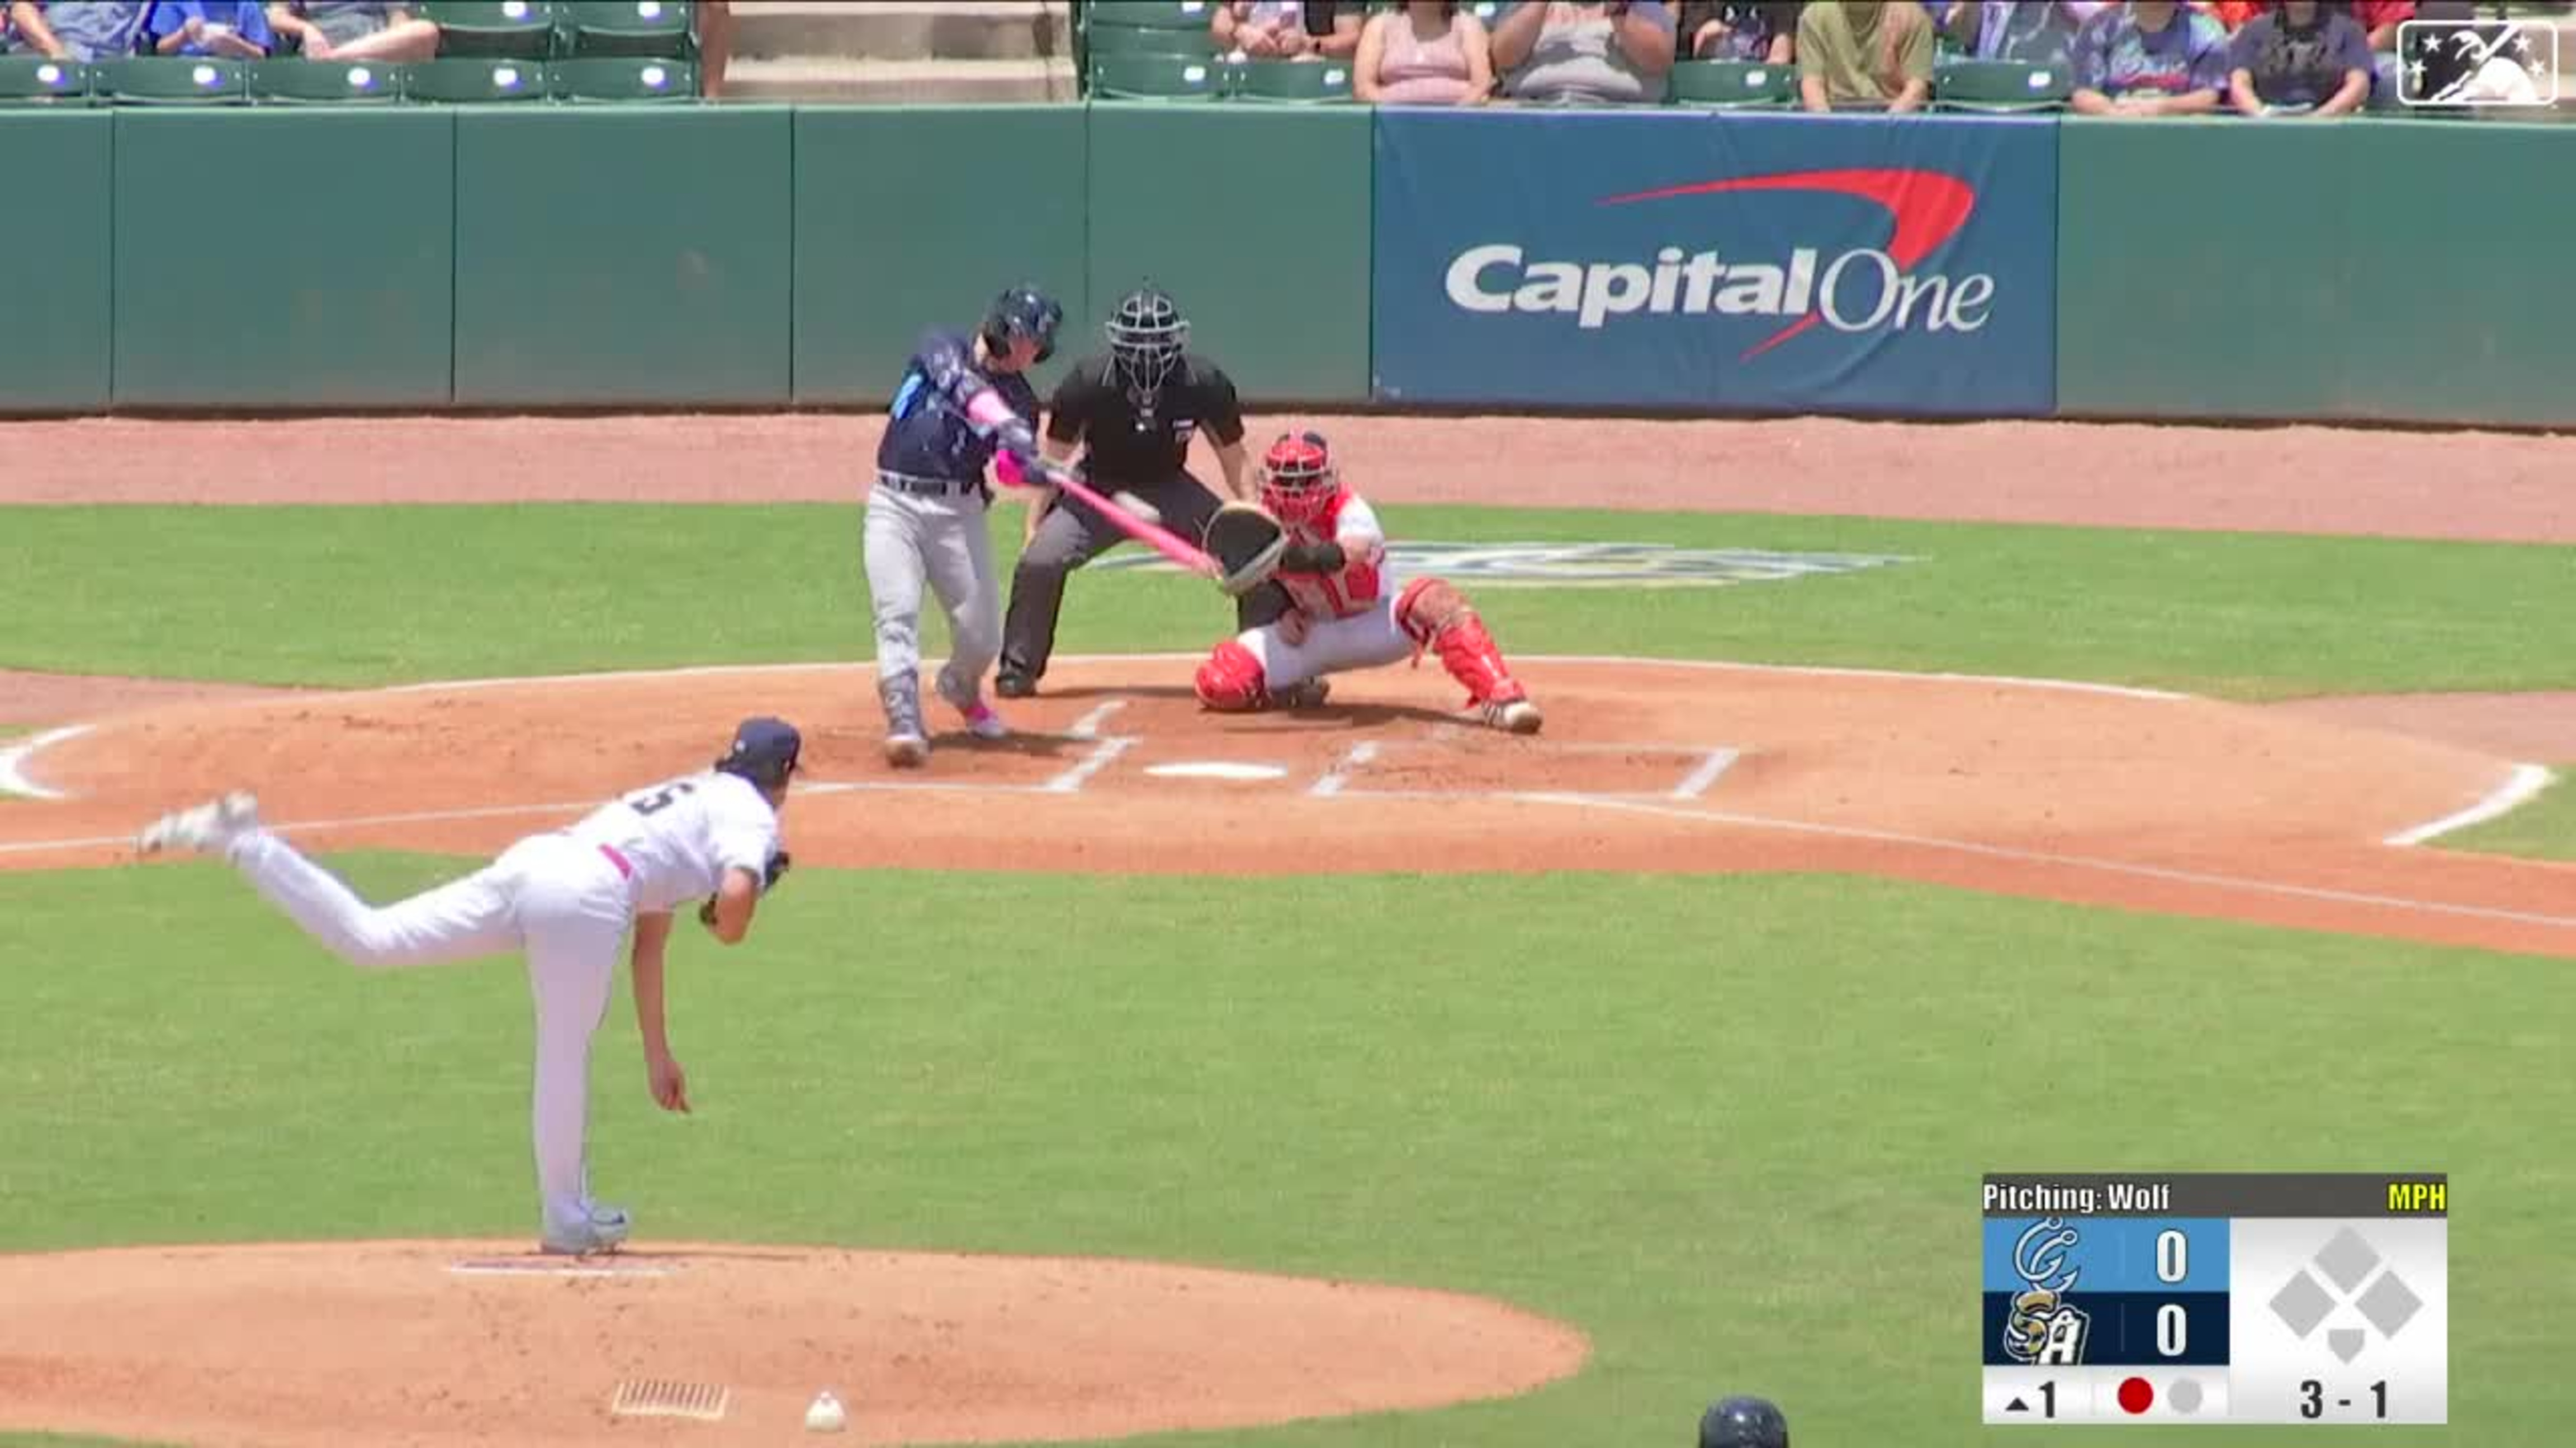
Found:
[{"label": "green wall section to the right of the Capital One sign", "polygon": [[2058,415],[2576,425],[2576,126],[2058,126]]}]

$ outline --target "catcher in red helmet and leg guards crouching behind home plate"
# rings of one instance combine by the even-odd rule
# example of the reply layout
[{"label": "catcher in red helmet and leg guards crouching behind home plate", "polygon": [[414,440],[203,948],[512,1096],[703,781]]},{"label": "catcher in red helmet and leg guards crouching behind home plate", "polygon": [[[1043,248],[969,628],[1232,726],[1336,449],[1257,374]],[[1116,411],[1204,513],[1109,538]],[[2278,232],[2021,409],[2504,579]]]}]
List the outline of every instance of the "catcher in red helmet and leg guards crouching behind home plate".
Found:
[{"label": "catcher in red helmet and leg guards crouching behind home plate", "polygon": [[1198,665],[1198,703],[1218,711],[1311,709],[1324,675],[1440,654],[1466,706],[1494,729],[1538,732],[1538,703],[1512,678],[1466,595],[1437,577],[1386,593],[1386,531],[1342,487],[1321,433],[1283,433],[1260,466],[1262,508],[1288,549],[1262,590],[1275,621],[1216,644]]}]

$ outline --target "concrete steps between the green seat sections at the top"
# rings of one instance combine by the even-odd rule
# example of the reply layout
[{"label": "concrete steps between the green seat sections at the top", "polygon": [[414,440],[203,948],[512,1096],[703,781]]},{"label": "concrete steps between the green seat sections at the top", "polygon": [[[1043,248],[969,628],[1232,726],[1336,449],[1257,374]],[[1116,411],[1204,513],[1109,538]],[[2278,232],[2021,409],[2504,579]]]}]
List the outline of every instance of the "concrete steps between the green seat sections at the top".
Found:
[{"label": "concrete steps between the green seat sections at the top", "polygon": [[729,100],[1077,100],[1066,0],[734,0]]}]

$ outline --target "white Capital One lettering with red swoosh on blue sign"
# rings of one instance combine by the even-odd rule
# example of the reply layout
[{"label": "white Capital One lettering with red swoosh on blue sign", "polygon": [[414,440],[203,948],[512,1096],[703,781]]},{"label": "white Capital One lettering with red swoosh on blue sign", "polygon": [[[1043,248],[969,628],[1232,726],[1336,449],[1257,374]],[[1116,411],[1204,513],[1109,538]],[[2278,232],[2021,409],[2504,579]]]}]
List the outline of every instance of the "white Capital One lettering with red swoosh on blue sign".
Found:
[{"label": "white Capital One lettering with red swoosh on blue sign", "polygon": [[[1891,232],[1883,247],[1850,247],[1826,260],[1819,247],[1793,247],[1785,265],[1731,263],[1716,250],[1667,245],[1654,265],[1633,260],[1528,260],[1512,242],[1484,242],[1450,258],[1443,286],[1461,312],[1561,312],[1582,330],[1610,317],[1788,317],[1739,361],[1752,361],[1816,325],[1837,332],[1922,330],[1976,332],[1994,304],[1994,273],[1945,276],[1917,271],[1976,211],[1976,188],[1955,175],[1911,167],[1798,170],[1741,175],[1605,196],[1597,206],[1631,206],[1682,196],[1741,191],[1811,191],[1870,201]],[[1721,286],[1723,283],[1723,286]]]}]

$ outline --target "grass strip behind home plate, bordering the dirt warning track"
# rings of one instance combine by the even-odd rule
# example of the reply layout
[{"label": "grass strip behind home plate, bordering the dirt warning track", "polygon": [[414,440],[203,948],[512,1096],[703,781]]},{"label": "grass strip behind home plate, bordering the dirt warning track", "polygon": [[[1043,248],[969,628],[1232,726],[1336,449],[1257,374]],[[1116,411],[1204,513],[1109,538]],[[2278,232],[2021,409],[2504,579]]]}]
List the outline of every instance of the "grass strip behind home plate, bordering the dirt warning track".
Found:
[{"label": "grass strip behind home plate, bordering the dirt warning track", "polygon": [[[44,598],[0,665],[368,685],[863,660],[860,510],[23,508],[0,572]],[[1710,590],[1466,587],[1507,652],[2014,672],[2236,698],[2576,683],[2568,549],[1777,515],[1391,508],[1399,538],[1669,541],[1917,562]],[[994,520],[1015,557],[1020,518]],[[175,605],[183,600],[185,605]],[[531,600],[544,600],[533,605]],[[927,649],[945,647],[927,611]],[[1206,582],[1072,585],[1066,652],[1203,649]]]}]

